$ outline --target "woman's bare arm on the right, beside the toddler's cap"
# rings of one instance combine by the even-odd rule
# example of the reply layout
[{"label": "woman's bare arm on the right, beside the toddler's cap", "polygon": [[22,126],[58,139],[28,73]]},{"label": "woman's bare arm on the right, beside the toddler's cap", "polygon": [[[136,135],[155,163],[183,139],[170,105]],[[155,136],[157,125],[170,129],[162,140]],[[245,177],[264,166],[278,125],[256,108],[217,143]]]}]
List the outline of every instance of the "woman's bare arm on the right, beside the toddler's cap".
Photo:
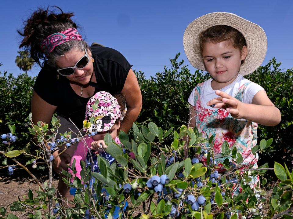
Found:
[{"label": "woman's bare arm on the right, beside the toddler's cap", "polygon": [[132,127],[132,123],[136,121],[142,107],[142,97],[137,78],[132,71],[129,70],[125,84],[121,93],[125,95],[127,103],[127,119],[122,122],[120,129],[126,133]]}]

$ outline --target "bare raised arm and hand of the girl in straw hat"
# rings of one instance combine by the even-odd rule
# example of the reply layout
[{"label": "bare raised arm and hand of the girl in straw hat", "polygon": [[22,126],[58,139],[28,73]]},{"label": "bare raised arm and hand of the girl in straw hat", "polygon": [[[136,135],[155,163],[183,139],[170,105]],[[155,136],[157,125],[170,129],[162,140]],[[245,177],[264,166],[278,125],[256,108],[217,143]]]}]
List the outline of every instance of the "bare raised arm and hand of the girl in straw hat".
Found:
[{"label": "bare raised arm and hand of the girl in straw hat", "polygon": [[257,92],[251,104],[242,103],[229,94],[216,90],[220,97],[208,101],[214,108],[224,108],[236,119],[246,119],[265,126],[275,126],[281,121],[280,110],[275,107],[264,90]]}]

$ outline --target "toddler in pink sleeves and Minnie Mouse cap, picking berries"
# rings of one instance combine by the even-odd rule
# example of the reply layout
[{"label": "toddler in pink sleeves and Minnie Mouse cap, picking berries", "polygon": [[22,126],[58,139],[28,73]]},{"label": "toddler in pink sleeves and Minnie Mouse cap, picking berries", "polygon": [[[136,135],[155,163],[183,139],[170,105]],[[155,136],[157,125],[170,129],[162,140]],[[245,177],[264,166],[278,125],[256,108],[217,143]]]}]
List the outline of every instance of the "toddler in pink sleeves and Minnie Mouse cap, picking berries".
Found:
[{"label": "toddler in pink sleeves and Minnie Mouse cap, picking berries", "polygon": [[[99,167],[97,165],[97,156],[102,156],[110,164],[112,164],[115,159],[105,151],[107,145],[104,142],[104,136],[109,133],[112,139],[115,140],[117,144],[121,144],[117,137],[117,132],[120,127],[121,112],[122,115],[125,114],[125,98],[122,95],[116,96],[119,100],[113,97],[110,93],[105,91],[97,92],[87,103],[85,112],[85,122],[89,122],[93,117],[96,120],[91,123],[89,128],[84,127],[84,131],[89,133],[89,137],[85,137],[85,143],[80,141],[74,154],[71,158],[70,166],[75,159],[75,169],[77,173],[73,174],[71,169],[68,172],[73,175],[71,178],[71,183],[74,181],[74,176],[81,179],[80,171],[81,165],[80,161],[83,160],[86,166],[91,166],[92,172],[99,172]],[[94,178],[91,180],[94,182]],[[74,195],[76,188],[71,187],[70,194]],[[106,190],[102,190],[103,193],[107,194]],[[72,196],[71,198],[72,199]],[[127,207],[125,204],[125,208]],[[117,218],[119,213],[119,208],[115,207],[115,212],[113,217]]]}]

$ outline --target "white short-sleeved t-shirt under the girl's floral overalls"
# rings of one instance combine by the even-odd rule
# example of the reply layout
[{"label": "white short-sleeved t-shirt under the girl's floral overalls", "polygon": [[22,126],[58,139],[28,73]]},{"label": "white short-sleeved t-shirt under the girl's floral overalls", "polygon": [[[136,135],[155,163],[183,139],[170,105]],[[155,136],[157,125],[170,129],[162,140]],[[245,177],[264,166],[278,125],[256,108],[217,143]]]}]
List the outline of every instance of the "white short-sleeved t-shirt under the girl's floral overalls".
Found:
[{"label": "white short-sleeved t-shirt under the girl's floral overalls", "polygon": [[[212,108],[210,106],[205,105],[205,104],[207,104],[208,101],[219,97],[217,94],[215,94],[216,90],[212,89],[212,86],[211,86],[212,80],[213,80],[213,78],[206,80],[201,87],[201,104],[204,105],[204,108],[214,110],[215,108]],[[250,81],[248,79],[245,79],[242,75],[238,74],[237,78],[231,84],[229,84],[219,90],[221,90],[225,93],[228,93],[231,97],[234,97],[235,93],[237,92],[239,87],[247,82],[250,82]],[[250,84],[244,90],[243,103],[251,104],[252,98],[260,90],[265,90],[265,89],[263,89],[262,86],[254,83],[254,82],[250,82]],[[194,91],[195,91],[195,88],[192,90],[192,92],[188,98],[188,103],[190,103],[192,106],[195,105],[194,104]]]}]

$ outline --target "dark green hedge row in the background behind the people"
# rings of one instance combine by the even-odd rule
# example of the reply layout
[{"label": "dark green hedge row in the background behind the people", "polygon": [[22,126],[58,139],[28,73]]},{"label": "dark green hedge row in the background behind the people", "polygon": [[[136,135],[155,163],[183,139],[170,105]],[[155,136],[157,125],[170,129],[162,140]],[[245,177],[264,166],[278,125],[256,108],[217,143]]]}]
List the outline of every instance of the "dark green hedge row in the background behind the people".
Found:
[{"label": "dark green hedge row in the background behind the people", "polygon": [[[188,97],[197,83],[209,78],[203,71],[190,70],[179,61],[179,54],[170,59],[171,68],[165,66],[163,72],[156,73],[151,78],[146,78],[144,73],[135,72],[143,95],[143,109],[137,123],[150,120],[163,129],[171,126],[175,128],[186,124],[189,119]],[[293,115],[293,69],[280,69],[280,63],[272,59],[263,67],[259,67],[253,74],[245,76],[258,83],[280,109],[282,120],[279,125],[267,127],[259,125],[259,141],[263,138],[273,137],[274,144],[259,157],[259,164],[265,162],[273,166],[273,161],[292,161],[292,115]],[[24,148],[29,142],[26,118],[30,112],[30,100],[34,77],[23,73],[14,77],[11,74],[0,72],[0,133],[7,133],[7,124],[16,124],[19,140],[16,148]],[[2,149],[2,146],[0,146]],[[34,147],[31,147],[34,150]],[[273,158],[273,159],[271,159]]]}]

